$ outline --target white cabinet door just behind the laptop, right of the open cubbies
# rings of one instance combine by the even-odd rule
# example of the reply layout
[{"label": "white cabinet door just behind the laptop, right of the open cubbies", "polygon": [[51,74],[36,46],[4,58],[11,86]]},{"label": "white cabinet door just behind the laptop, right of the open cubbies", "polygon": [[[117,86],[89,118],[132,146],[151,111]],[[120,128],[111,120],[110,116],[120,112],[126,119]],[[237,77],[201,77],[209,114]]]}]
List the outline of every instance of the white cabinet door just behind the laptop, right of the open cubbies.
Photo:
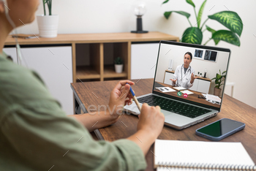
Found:
[{"label": "white cabinet door just behind the laptop, right of the open cubbies", "polygon": [[159,43],[132,44],[131,78],[154,78]]}]

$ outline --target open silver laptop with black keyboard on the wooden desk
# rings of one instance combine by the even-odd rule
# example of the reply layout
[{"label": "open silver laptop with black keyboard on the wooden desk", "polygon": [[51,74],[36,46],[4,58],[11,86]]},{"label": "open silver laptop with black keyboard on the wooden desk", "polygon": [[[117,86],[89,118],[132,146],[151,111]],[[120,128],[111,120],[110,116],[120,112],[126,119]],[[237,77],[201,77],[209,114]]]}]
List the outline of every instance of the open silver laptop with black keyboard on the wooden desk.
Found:
[{"label": "open silver laptop with black keyboard on the wooden desk", "polygon": [[[178,71],[180,72],[179,69],[184,65],[184,54],[187,52],[192,53],[192,61],[181,77],[187,77],[189,80],[193,73],[197,78],[190,85],[191,87],[177,87],[179,85],[174,85],[170,79],[173,79],[174,75],[178,77]],[[223,85],[220,86],[222,91],[214,95],[216,84],[212,79],[219,72],[220,75],[227,75],[227,72],[224,74],[222,72],[227,71],[229,59],[229,49],[161,41],[152,93],[138,96],[138,102],[140,105],[143,103],[151,106],[159,105],[165,115],[165,125],[174,129],[185,129],[214,117],[222,107],[226,80],[222,77]],[[124,111],[140,114],[135,102],[124,106]]]}]

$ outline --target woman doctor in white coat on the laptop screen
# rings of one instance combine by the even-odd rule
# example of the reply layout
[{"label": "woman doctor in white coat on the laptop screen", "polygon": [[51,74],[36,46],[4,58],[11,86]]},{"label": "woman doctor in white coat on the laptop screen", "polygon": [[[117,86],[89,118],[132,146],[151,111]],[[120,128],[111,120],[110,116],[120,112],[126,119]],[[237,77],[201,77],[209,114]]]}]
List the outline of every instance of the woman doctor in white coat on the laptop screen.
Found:
[{"label": "woman doctor in white coat on the laptop screen", "polygon": [[191,61],[192,53],[185,53],[184,64],[177,66],[173,79],[170,79],[173,86],[184,87],[187,89],[193,86],[194,80],[197,77],[195,77],[195,69],[190,66]]}]

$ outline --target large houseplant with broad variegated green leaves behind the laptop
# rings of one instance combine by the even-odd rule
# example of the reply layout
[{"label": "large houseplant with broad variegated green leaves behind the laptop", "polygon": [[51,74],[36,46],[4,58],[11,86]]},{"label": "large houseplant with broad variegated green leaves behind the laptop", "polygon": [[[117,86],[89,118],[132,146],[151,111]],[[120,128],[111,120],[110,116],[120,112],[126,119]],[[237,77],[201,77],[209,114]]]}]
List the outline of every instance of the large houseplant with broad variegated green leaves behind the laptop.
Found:
[{"label": "large houseplant with broad variegated green leaves behind the laptop", "polygon": [[[162,4],[167,3],[169,0],[164,1]],[[176,12],[180,15],[184,15],[187,20],[189,21],[190,27],[187,28],[184,31],[184,34],[182,34],[181,42],[187,42],[192,44],[201,45],[203,40],[203,31],[210,31],[211,37],[208,39],[206,43],[203,45],[206,45],[211,39],[214,40],[215,45],[219,43],[220,40],[228,42],[233,45],[240,46],[240,39],[241,33],[243,31],[243,23],[241,21],[241,18],[236,12],[233,11],[222,11],[217,12],[214,15],[208,15],[208,18],[201,24],[201,18],[203,15],[203,9],[206,5],[206,1],[203,1],[203,4],[201,5],[198,14],[195,11],[195,4],[192,0],[186,0],[188,4],[192,5],[194,7],[195,12],[195,18],[197,20],[197,23],[195,25],[192,25],[189,21],[190,14],[184,11],[168,11],[165,12],[165,18],[168,19],[172,12]],[[209,26],[206,26],[205,29],[204,26],[208,19],[211,20],[217,20],[219,23],[221,23],[223,26],[228,28],[229,30],[218,30],[215,31],[213,28],[210,28]],[[196,26],[197,25],[197,26]]]}]

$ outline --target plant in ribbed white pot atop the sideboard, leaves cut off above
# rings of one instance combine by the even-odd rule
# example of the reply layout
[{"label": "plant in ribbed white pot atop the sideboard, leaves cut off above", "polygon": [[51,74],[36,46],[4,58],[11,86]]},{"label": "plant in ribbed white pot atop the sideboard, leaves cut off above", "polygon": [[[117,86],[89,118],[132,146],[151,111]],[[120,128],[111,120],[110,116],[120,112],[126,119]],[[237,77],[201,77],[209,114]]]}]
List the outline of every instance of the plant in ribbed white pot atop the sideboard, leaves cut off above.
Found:
[{"label": "plant in ribbed white pot atop the sideboard, leaves cut off above", "polygon": [[[45,4],[48,7],[49,14],[46,15]],[[40,37],[57,37],[59,15],[52,15],[52,0],[42,0],[44,15],[37,15],[37,25]]]}]

